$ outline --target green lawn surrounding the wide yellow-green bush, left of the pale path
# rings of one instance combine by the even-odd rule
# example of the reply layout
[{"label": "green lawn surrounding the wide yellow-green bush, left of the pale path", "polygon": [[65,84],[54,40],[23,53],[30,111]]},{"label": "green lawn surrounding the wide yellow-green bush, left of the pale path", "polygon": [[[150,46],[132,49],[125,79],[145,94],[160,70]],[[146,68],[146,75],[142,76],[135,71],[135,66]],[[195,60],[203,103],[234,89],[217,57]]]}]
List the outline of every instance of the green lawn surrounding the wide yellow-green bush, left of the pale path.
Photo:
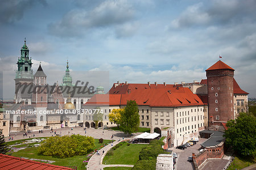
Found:
[{"label": "green lawn surrounding the wide yellow-green bush, left of the pale path", "polygon": [[[101,146],[104,145],[104,143],[110,142],[110,140],[104,140],[103,144],[98,143],[98,139],[94,140],[95,147],[92,149],[100,149]],[[89,155],[89,154],[87,154]],[[26,158],[35,158],[35,159],[43,159],[43,160],[53,160],[55,161],[54,165],[60,165],[60,166],[74,166],[77,167],[77,169],[81,169],[82,162],[86,160],[88,157],[87,155],[77,155],[73,156],[72,158],[57,158],[56,156],[44,156],[42,154],[39,154],[37,151],[37,147],[28,147],[24,150],[20,150],[18,152],[13,152],[11,156],[17,156],[17,157],[26,157]]]}]

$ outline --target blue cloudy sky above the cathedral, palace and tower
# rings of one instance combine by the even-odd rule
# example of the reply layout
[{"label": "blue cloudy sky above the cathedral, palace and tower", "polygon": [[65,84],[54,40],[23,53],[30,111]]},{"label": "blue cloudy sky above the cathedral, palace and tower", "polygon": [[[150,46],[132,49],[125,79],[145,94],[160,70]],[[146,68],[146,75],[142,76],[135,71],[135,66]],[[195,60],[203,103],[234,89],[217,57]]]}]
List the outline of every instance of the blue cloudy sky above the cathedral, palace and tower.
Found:
[{"label": "blue cloudy sky above the cathedral, palace and tower", "polygon": [[109,71],[109,87],[117,80],[200,81],[221,55],[240,87],[256,97],[253,0],[9,0],[1,2],[0,36],[10,98],[24,37],[32,68],[41,61],[48,77],[55,76],[51,70],[64,74],[68,59],[74,71]]}]

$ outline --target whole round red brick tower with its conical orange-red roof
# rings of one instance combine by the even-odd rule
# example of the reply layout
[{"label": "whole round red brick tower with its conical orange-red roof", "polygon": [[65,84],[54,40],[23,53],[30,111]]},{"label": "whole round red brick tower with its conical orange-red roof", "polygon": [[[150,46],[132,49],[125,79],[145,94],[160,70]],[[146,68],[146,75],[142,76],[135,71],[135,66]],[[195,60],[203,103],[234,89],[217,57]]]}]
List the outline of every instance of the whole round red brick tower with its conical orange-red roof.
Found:
[{"label": "whole round red brick tower with its conical orange-red roof", "polygon": [[208,84],[209,129],[223,130],[226,122],[234,118],[234,69],[218,61],[205,71]]}]

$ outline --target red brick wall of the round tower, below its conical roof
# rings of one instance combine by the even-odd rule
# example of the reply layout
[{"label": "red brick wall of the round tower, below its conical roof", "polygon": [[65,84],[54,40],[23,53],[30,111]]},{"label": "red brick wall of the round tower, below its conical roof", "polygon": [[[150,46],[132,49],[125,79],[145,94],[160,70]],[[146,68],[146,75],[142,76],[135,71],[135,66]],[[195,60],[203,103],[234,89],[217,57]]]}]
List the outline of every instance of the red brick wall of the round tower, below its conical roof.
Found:
[{"label": "red brick wall of the round tower, below its conical roof", "polygon": [[[209,126],[213,125],[212,117],[213,121],[220,122],[227,122],[233,118],[233,76],[234,71],[228,69],[207,71]],[[218,100],[217,103],[216,100]]]}]

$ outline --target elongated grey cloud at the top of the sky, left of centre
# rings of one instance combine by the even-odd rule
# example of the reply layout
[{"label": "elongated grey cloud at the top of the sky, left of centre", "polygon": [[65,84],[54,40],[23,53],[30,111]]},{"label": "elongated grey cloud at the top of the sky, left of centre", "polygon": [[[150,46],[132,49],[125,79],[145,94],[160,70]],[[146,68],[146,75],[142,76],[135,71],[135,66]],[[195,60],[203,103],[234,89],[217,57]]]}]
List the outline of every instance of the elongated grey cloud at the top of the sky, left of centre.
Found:
[{"label": "elongated grey cloud at the top of the sky, left of centre", "polygon": [[133,7],[127,1],[105,1],[91,10],[73,9],[55,23],[48,25],[56,36],[81,36],[89,28],[110,27],[134,18]]}]

